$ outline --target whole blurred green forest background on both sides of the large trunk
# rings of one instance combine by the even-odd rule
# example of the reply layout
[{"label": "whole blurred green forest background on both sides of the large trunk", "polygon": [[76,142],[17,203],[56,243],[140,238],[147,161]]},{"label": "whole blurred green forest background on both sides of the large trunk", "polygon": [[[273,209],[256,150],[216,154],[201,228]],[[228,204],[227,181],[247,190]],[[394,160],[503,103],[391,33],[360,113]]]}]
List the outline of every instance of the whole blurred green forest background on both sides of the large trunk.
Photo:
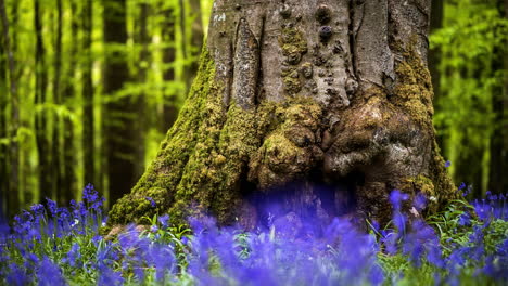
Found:
[{"label": "whole blurred green forest background on both sides of the large trunk", "polygon": [[[129,192],[178,115],[212,0],[0,0],[0,207]],[[429,63],[456,183],[508,191],[508,1],[439,0]]]}]

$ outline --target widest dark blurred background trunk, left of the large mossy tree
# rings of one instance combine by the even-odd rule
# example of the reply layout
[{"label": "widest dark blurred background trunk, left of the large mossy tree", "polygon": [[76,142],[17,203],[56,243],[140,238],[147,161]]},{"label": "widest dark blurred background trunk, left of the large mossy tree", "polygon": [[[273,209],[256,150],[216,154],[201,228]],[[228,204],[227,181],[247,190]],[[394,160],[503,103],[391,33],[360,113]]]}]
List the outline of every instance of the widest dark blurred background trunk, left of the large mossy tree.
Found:
[{"label": "widest dark blurred background trunk, left of the large mossy tree", "polygon": [[[112,44],[126,46],[126,1],[103,0],[103,4],[106,50]],[[137,121],[136,102],[131,96],[114,98],[128,77],[125,51],[114,49],[114,52],[109,52],[104,64],[104,93],[110,100],[104,106],[103,138],[111,204],[127,193],[137,180],[135,158],[139,142],[136,128],[132,128]]]}]

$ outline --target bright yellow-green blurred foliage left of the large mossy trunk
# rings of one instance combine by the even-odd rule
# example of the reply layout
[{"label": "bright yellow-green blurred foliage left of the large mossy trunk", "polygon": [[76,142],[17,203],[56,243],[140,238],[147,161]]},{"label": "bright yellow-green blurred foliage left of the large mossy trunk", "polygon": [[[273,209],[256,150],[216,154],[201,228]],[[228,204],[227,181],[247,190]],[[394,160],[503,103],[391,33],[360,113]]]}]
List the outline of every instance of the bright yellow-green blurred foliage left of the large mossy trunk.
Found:
[{"label": "bright yellow-green blurred foliage left of the large mossy trunk", "polygon": [[[40,29],[34,21],[36,2]],[[139,172],[144,169],[182,106],[192,78],[191,66],[201,51],[201,47],[193,47],[196,42],[192,39],[202,39],[204,29],[186,28],[206,26],[212,10],[212,0],[193,0],[199,11],[192,9],[191,0],[126,0],[127,41],[105,43],[104,20],[112,16],[107,14],[105,1],[63,0],[61,8],[58,3],[55,0],[4,1],[8,36],[16,65],[11,75],[0,25],[0,177],[9,178],[14,172],[10,167],[9,147],[13,142],[18,143],[20,207],[40,202],[42,194],[68,202],[79,196],[77,186],[88,183],[84,182],[86,178],[93,178],[91,183],[106,194],[107,166],[101,158],[106,157],[107,151],[101,146],[106,139],[104,126],[122,123],[115,118],[136,118],[136,127],[129,128],[137,129],[139,154],[119,156],[136,160]],[[111,3],[109,9],[123,9],[118,1],[107,2]],[[38,38],[43,54],[37,54]],[[38,56],[41,58],[36,61]],[[119,90],[106,94],[104,64],[117,61],[127,62],[128,80],[122,82]],[[40,73],[36,72],[43,72],[46,80],[38,78]],[[10,94],[10,78],[15,79],[17,87],[17,106]],[[87,86],[88,82],[91,86]],[[107,106],[125,100],[142,104],[136,106],[136,110],[105,114]],[[86,110],[89,107],[90,113]],[[13,112],[20,114],[17,127]],[[43,133],[36,132],[36,117],[45,119]],[[40,150],[42,139],[50,148],[48,152]],[[87,153],[88,150],[92,152]],[[94,169],[88,177],[85,173],[87,159]],[[48,161],[49,167],[41,165],[42,160]],[[43,177],[49,178],[52,186],[39,193]],[[73,184],[66,194],[58,191],[69,188],[58,185],[62,178],[68,178]],[[1,200],[7,202],[3,194]],[[5,206],[0,208],[5,210]]]}]

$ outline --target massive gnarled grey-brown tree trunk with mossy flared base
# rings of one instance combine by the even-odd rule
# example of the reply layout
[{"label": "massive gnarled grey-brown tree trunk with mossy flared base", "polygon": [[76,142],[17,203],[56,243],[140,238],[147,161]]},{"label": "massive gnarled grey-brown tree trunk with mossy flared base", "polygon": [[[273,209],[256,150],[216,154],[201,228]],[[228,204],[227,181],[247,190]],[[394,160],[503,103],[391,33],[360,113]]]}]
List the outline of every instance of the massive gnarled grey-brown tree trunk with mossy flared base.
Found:
[{"label": "massive gnarled grey-brown tree trunk with mossy flared base", "polygon": [[215,1],[179,118],[111,223],[386,222],[393,188],[431,197],[429,212],[453,196],[432,127],[430,1],[283,2]]}]

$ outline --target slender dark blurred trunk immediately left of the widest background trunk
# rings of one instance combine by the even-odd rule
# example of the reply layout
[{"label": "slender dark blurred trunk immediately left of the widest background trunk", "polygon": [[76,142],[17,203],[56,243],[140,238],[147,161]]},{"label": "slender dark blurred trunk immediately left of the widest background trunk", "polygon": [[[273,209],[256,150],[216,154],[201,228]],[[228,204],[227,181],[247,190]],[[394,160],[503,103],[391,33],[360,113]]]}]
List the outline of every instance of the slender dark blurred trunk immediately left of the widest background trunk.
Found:
[{"label": "slender dark blurred trunk immediately left of the widest background trunk", "polygon": [[94,168],[94,114],[93,114],[93,82],[92,82],[92,0],[86,0],[82,4],[81,29],[82,29],[82,147],[85,183],[98,184]]}]

